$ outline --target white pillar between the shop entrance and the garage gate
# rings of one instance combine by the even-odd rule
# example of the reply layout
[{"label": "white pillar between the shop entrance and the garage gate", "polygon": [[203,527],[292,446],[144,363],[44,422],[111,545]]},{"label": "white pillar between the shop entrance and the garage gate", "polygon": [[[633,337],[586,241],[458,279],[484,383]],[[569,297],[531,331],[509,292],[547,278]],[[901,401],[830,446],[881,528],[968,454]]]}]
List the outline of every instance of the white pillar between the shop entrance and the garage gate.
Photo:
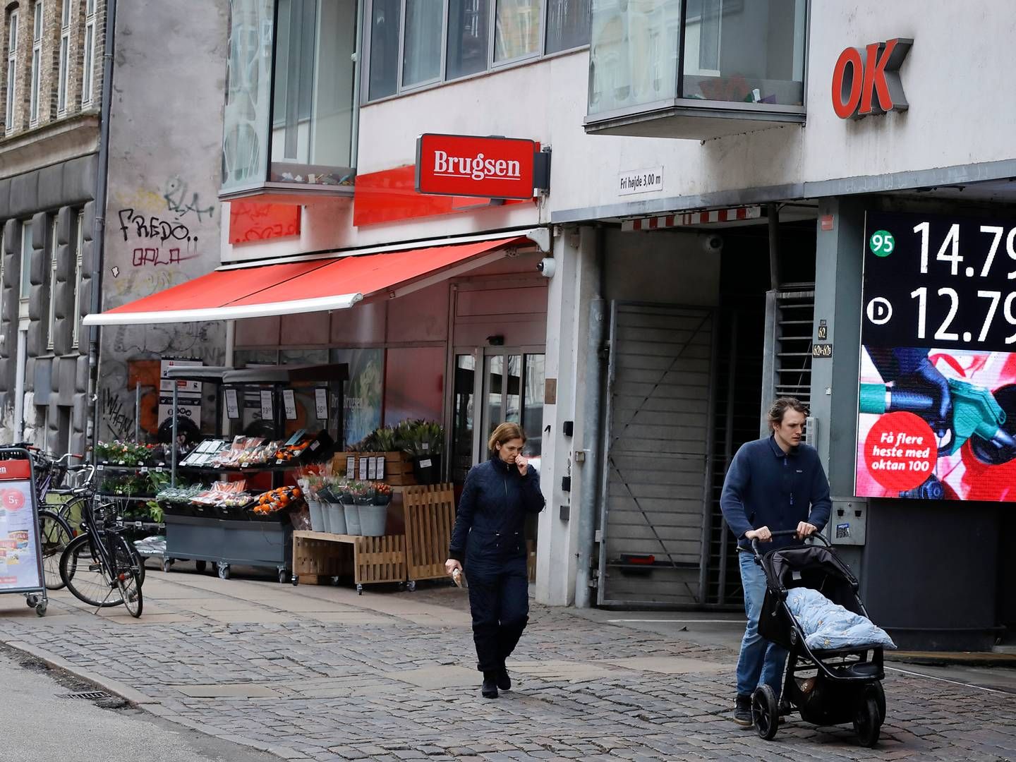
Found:
[{"label": "white pillar between the shop entrance and the garage gate", "polygon": [[[536,546],[536,600],[569,606],[575,598],[575,553],[581,499],[575,448],[582,441],[581,362],[592,295],[588,270],[593,262],[592,228],[569,228],[554,239],[557,269],[550,282],[547,310],[547,378],[557,382],[557,398],[544,406],[544,453],[541,485],[547,509],[539,516]],[[562,426],[574,422],[572,437]],[[550,432],[546,432],[547,427]],[[562,490],[562,478],[571,475],[571,491]]]}]

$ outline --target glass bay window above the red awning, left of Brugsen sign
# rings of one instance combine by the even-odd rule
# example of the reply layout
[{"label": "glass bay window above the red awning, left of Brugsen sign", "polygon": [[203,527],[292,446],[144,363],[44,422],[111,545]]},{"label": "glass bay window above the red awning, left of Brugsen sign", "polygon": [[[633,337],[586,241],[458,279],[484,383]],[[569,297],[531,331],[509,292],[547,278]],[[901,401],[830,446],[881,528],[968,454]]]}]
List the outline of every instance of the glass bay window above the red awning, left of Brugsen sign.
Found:
[{"label": "glass bay window above the red awning, left of Brugsen sign", "polygon": [[224,198],[352,185],[357,0],[274,5],[233,2]]}]

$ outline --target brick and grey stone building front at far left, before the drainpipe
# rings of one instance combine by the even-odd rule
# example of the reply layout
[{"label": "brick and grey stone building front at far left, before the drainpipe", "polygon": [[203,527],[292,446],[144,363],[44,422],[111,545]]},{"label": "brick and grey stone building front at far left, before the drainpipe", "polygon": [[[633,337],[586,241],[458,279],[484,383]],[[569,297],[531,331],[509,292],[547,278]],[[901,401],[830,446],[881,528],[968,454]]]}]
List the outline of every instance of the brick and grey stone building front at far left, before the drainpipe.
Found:
[{"label": "brick and grey stone building front at far left, before the drainpipe", "polygon": [[83,451],[106,3],[4,8],[3,434]]}]

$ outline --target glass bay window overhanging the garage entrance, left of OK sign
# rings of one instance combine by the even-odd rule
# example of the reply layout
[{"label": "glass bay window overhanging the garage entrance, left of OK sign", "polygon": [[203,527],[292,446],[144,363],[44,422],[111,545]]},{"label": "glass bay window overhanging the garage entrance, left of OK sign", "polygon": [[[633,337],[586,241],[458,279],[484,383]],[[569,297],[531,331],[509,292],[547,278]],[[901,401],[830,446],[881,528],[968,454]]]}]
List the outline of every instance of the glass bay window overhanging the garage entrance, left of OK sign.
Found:
[{"label": "glass bay window overhanging the garage entrance, left of OK sign", "polygon": [[587,125],[633,112],[658,118],[666,108],[687,110],[682,116],[708,108],[734,118],[742,112],[749,120],[800,115],[792,121],[803,121],[806,6],[807,0],[637,6],[594,0]]}]

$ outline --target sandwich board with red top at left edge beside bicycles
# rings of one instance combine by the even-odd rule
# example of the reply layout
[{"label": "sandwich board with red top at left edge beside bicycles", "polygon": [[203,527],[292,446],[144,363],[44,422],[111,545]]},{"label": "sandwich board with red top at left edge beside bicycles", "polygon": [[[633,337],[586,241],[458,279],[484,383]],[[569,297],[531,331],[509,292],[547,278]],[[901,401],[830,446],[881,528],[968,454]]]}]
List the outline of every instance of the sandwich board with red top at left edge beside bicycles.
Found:
[{"label": "sandwich board with red top at left edge beside bicycles", "polygon": [[36,469],[22,447],[0,447],[0,593],[25,596],[46,615],[49,598],[43,574]]}]

